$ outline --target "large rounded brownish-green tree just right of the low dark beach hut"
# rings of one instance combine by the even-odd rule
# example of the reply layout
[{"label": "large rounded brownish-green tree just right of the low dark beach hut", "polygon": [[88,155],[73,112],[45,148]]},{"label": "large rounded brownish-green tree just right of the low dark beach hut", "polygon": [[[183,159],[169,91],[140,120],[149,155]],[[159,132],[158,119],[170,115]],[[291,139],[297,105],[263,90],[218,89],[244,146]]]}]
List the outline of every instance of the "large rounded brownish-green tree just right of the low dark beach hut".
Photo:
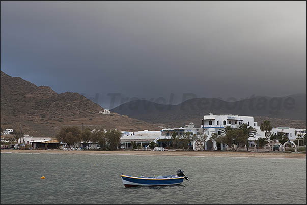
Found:
[{"label": "large rounded brownish-green tree just right of the low dark beach hut", "polygon": [[56,135],[56,138],[60,142],[67,143],[70,147],[80,142],[81,130],[80,128],[73,127],[62,127],[60,132]]}]

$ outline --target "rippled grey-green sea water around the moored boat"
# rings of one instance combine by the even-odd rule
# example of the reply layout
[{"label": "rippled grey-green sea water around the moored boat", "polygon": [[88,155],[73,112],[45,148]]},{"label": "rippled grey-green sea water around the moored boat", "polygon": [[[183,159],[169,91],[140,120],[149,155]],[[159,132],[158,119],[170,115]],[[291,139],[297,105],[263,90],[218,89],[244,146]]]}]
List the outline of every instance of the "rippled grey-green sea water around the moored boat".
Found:
[{"label": "rippled grey-green sea water around the moored boat", "polygon": [[[0,156],[1,203],[306,203],[305,159]],[[175,175],[178,169],[190,181],[170,187],[125,188],[119,177],[121,173]]]}]

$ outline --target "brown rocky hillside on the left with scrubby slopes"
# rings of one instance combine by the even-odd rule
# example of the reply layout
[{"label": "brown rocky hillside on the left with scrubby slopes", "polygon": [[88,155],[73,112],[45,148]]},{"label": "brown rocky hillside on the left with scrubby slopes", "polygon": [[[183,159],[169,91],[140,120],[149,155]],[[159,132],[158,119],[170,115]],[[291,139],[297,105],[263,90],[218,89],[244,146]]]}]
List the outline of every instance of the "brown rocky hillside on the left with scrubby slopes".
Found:
[{"label": "brown rocky hillside on the left with scrubby slopes", "polygon": [[62,126],[106,128],[126,131],[159,130],[142,120],[104,109],[79,93],[57,93],[1,71],[1,127],[22,129],[31,136],[54,137]]}]

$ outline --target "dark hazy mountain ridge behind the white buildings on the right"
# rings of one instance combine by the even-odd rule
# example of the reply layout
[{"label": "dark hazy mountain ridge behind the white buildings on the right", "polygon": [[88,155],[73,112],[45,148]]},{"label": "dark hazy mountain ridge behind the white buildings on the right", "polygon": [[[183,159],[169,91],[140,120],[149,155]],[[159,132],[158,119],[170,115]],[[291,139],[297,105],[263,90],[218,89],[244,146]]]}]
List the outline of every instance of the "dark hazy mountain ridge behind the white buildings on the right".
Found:
[{"label": "dark hazy mountain ridge behind the white buildings on the right", "polygon": [[306,127],[306,94],[286,97],[257,96],[236,102],[217,98],[194,98],[178,105],[163,105],[147,100],[124,103],[111,111],[128,115],[130,118],[151,123],[164,123],[170,127],[188,122],[200,124],[200,119],[213,114],[239,114],[254,116],[261,123],[270,120],[273,126]]}]

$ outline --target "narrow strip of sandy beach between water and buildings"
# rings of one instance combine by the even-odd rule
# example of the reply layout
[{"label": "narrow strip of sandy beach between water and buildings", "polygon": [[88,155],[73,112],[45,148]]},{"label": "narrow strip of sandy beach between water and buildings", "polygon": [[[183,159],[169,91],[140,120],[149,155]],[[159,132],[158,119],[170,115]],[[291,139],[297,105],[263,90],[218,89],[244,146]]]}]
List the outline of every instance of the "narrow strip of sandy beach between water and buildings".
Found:
[{"label": "narrow strip of sandy beach between water and buildings", "polygon": [[296,158],[306,159],[305,153],[257,153],[220,151],[63,151],[63,150],[1,150],[1,153],[51,153],[51,154],[113,154],[113,155],[168,155],[196,157],[253,157],[253,158]]}]

